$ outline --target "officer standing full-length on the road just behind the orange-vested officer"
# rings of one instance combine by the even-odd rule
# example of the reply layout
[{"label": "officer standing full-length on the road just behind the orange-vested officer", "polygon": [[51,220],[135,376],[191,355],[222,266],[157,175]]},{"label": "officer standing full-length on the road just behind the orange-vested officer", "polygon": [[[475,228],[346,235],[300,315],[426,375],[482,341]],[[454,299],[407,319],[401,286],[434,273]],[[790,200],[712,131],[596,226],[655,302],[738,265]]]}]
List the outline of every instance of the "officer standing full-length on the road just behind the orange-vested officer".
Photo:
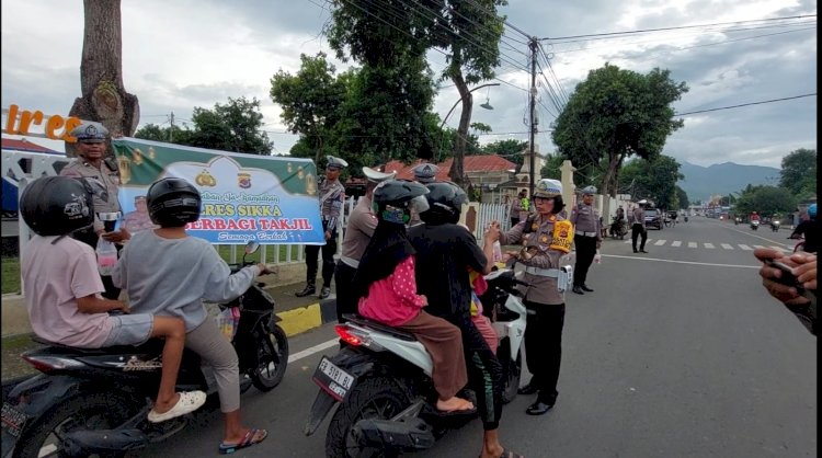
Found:
[{"label": "officer standing full-length on the road just behind the orange-vested officer", "polygon": [[600,215],[594,208],[596,187],[582,190],[582,202],[571,211],[571,224],[574,227],[573,243],[576,247],[576,264],[573,267],[573,288],[578,295],[594,290],[585,284],[587,270],[594,261],[596,250],[602,247],[602,227]]}]

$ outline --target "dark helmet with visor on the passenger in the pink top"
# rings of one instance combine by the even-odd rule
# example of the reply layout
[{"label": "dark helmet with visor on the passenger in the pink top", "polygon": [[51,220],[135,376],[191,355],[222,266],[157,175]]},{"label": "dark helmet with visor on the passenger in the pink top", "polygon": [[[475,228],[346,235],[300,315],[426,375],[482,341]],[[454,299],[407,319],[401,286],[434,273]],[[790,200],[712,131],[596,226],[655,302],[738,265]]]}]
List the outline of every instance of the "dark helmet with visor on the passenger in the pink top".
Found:
[{"label": "dark helmet with visor on the passenger in the pink top", "polygon": [[386,180],[374,188],[374,213],[387,222],[404,225],[411,220],[411,210],[425,211],[429,204],[423,197],[429,190],[420,183],[406,180]]}]

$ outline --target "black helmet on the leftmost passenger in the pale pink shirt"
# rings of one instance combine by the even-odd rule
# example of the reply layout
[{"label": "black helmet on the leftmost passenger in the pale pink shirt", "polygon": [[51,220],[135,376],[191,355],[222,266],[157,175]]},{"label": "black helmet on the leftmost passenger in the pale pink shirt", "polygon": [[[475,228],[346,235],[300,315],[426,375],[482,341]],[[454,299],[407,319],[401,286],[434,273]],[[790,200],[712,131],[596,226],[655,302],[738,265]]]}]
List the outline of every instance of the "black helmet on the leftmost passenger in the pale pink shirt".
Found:
[{"label": "black helmet on the leftmost passenger in the pale pink shirt", "polygon": [[91,186],[84,180],[43,176],[23,188],[20,213],[39,236],[65,236],[94,224]]}]

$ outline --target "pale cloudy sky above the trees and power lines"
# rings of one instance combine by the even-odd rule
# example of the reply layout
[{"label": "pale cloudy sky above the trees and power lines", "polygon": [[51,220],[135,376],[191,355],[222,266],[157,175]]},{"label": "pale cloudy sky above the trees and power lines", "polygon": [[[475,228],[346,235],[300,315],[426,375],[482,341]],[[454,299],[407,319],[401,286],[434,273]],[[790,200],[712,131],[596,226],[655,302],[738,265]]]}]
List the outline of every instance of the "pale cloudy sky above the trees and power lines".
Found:
[{"label": "pale cloudy sky above the trees and power lines", "polygon": [[[0,8],[2,107],[66,115],[80,95],[82,1],[3,0]],[[269,95],[271,77],[279,69],[296,72],[300,53],[333,56],[321,33],[328,8],[323,0],[123,1],[123,78],[139,99],[140,124],[168,123],[171,112],[183,123],[195,106],[256,98],[274,152],[286,153],[297,137],[283,134],[281,110]],[[683,116],[685,127],[665,147],[680,162],[778,168],[790,151],[817,148],[813,0],[509,0],[500,12],[509,26],[503,65],[498,80],[490,81],[500,85],[475,92],[472,122],[488,124],[494,134],[481,136],[483,144],[528,138],[524,118],[530,78],[521,31],[548,38],[541,44],[550,69],[543,61],[546,76],[538,78],[540,129],[558,113],[548,84],[562,99],[589,71],[610,62],[643,73],[655,67],[671,70],[673,80],[689,88],[674,105],[677,113],[813,94]],[[797,16],[806,18],[773,20]],[[707,24],[716,25],[701,26]],[[677,28],[574,38],[671,27]],[[431,51],[429,61],[438,72],[445,56]],[[350,65],[335,64],[338,70]],[[435,111],[445,116],[459,95],[448,81],[441,85]],[[493,111],[478,106],[486,99]],[[447,119],[452,127],[458,111]],[[61,142],[34,141],[62,150]],[[549,131],[540,130],[536,141],[541,152],[556,149]]]}]

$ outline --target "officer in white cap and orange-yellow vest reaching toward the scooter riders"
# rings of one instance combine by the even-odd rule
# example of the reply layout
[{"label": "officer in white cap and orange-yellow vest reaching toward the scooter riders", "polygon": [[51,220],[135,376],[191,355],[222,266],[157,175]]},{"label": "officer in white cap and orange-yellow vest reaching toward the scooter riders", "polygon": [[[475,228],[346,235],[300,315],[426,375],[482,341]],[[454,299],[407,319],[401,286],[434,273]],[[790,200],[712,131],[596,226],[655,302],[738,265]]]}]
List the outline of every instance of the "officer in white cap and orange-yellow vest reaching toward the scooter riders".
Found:
[{"label": "officer in white cap and orange-yellow vest reaching toward the scooter riders", "polygon": [[[564,285],[559,285],[560,266],[570,262],[573,227],[562,215],[562,187],[556,181],[540,180],[534,191],[535,213],[507,232],[500,233],[503,245],[522,243],[520,252],[509,253],[525,265],[525,356],[534,375],[521,394],[537,394],[525,411],[543,415],[557,402],[557,380],[562,356],[562,328],[566,319]],[[493,221],[492,225],[498,225]]]}]

